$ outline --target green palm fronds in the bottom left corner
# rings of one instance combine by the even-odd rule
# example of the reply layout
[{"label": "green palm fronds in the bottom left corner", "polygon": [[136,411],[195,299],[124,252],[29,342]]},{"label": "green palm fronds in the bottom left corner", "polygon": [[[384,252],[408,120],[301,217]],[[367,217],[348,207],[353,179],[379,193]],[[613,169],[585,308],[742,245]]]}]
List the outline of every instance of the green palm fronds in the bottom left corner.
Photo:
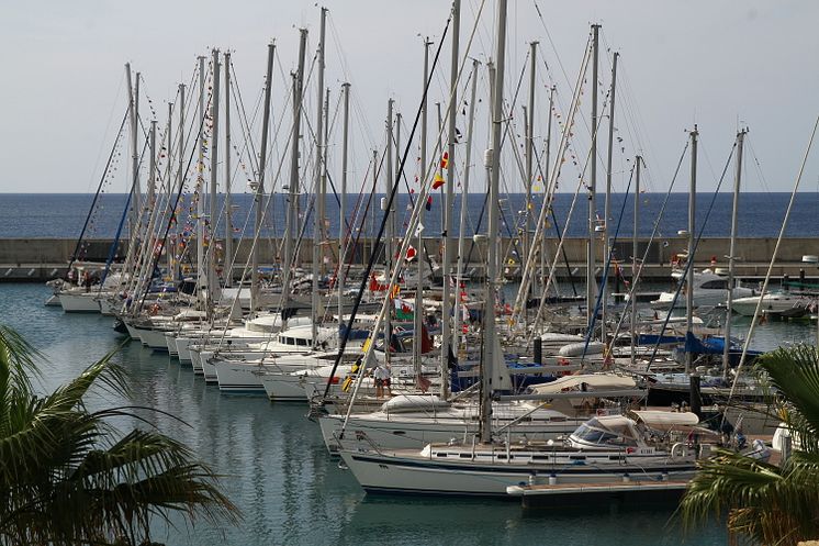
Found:
[{"label": "green palm fronds in the bottom left corner", "polygon": [[[51,394],[31,383],[40,355],[0,326],[0,545],[150,544],[155,520],[237,522],[217,477],[155,430],[121,433],[111,417],[137,408],[89,411],[92,387],[126,394],[115,350]],[[147,410],[147,409],[142,409]]]}]

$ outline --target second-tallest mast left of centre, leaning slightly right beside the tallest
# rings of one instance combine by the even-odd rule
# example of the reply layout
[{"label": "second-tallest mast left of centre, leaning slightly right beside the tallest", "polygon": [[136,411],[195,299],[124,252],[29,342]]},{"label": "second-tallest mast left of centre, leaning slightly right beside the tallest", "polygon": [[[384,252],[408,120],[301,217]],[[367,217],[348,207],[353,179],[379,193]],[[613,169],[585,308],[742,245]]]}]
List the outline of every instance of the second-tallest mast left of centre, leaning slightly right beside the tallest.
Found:
[{"label": "second-tallest mast left of centre, leaning slightly right beside the tallest", "polygon": [[[299,30],[299,69],[293,74],[293,133],[290,148],[290,200],[288,201],[288,221],[284,232],[284,282],[281,289],[282,311],[287,309],[290,296],[291,268],[293,268],[293,236],[298,233],[299,212],[299,137],[302,126],[302,91],[304,89],[304,53],[307,46],[307,29]],[[285,313],[287,315],[287,313]],[[287,321],[282,322],[282,326]]]}]

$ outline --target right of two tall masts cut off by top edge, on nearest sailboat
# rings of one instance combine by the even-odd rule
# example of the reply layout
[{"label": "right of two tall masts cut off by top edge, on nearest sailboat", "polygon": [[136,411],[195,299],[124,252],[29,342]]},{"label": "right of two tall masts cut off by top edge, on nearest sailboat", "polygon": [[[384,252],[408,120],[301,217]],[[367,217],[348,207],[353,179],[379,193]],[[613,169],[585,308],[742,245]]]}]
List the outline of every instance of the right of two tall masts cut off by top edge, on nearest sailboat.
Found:
[{"label": "right of two tall masts cut off by top edge, on nearest sailboat", "polygon": [[501,142],[503,136],[503,80],[506,65],[506,0],[497,2],[497,51],[495,52],[497,69],[494,79],[492,105],[492,148],[486,151],[485,159],[491,169],[489,224],[489,252],[486,263],[486,300],[483,328],[483,360],[481,361],[481,442],[492,439],[492,380],[495,372],[496,336],[495,331],[495,282],[497,277],[497,229],[498,229],[498,188],[501,175]]}]

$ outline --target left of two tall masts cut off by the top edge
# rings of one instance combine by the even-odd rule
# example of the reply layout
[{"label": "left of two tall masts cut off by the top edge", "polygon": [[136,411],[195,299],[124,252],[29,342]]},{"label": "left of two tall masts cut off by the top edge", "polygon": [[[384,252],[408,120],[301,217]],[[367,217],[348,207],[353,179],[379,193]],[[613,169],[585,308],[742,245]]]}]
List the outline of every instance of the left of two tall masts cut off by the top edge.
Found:
[{"label": "left of two tall masts cut off by the top edge", "polygon": [[[452,333],[450,328],[450,301],[452,288],[452,258],[455,246],[450,244],[452,234],[452,214],[455,212],[455,141],[456,118],[458,115],[458,54],[460,45],[461,0],[452,1],[452,58],[449,69],[449,155],[447,163],[447,200],[444,209],[444,302],[441,305],[441,354],[440,354],[440,397],[449,393],[449,355],[452,353]],[[459,293],[456,287],[456,293]]]}]

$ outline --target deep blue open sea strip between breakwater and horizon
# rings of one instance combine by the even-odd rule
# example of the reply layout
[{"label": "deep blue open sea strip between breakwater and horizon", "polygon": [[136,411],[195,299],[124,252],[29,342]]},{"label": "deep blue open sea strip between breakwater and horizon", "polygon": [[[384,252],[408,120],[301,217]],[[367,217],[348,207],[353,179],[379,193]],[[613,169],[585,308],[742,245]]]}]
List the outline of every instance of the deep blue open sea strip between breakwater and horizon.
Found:
[{"label": "deep blue open sea strip between breakwater and horizon", "polygon": [[[352,233],[374,234],[381,222],[383,194],[370,197],[348,194],[346,198],[346,221]],[[273,193],[265,199],[265,214],[261,229],[262,236],[281,236],[285,225],[288,196]],[[338,196],[327,196],[326,215],[330,234],[338,233],[340,222]],[[392,209],[395,211],[396,227],[402,233],[402,223],[410,220],[413,196],[397,193]],[[743,192],[739,200],[739,237],[776,237],[785,218],[790,193],[784,192]],[[532,210],[538,213],[542,196],[536,194]],[[440,236],[442,198],[436,193],[428,211],[425,211],[425,237]],[[123,193],[0,193],[0,238],[77,238],[85,229],[86,238],[114,238],[126,210],[128,196]],[[253,196],[238,193],[232,196],[233,227],[235,236],[253,235],[255,213]],[[604,197],[597,196],[597,216],[604,216]],[[698,193],[696,198],[696,230],[704,236],[728,236],[731,225],[730,193]],[[313,205],[306,197],[301,196],[300,222],[304,234],[313,233]],[[386,204],[386,203],[384,203]],[[468,235],[486,230],[486,200],[483,194],[470,194],[467,201],[464,231]],[[655,233],[658,237],[676,236],[681,230],[688,229],[688,196],[685,193],[641,193],[640,225],[638,234],[643,237]],[[217,197],[217,210],[224,210],[224,196]],[[460,197],[456,197],[452,216],[451,235],[458,235],[460,221]],[[523,229],[521,211],[525,196],[508,193],[501,200],[501,230],[505,236],[512,236]],[[195,207],[189,197],[180,200],[177,208],[177,223],[181,230],[192,230],[195,224]],[[553,215],[549,218],[549,232],[556,236],[581,237],[588,233],[587,196],[558,193],[552,205]],[[614,237],[630,237],[633,226],[633,196],[616,193],[612,196],[609,233]],[[797,193],[790,213],[786,236],[819,236],[819,193]],[[223,214],[220,213],[220,218]],[[703,230],[704,227],[704,230]],[[218,223],[217,231],[224,235],[224,221]]]}]

